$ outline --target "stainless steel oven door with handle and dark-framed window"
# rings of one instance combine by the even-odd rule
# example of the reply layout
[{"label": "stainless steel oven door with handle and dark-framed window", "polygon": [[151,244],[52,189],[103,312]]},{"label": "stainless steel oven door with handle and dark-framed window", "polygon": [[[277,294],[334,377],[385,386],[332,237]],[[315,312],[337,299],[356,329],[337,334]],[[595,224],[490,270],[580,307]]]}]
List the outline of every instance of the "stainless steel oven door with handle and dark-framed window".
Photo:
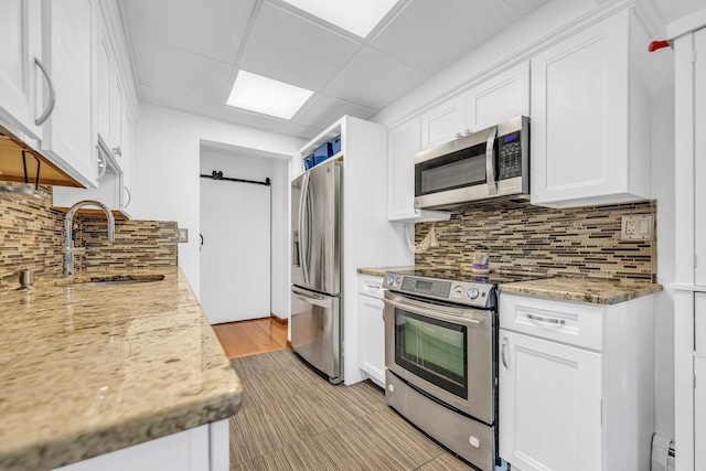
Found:
[{"label": "stainless steel oven door with handle and dark-framed window", "polygon": [[489,425],[493,312],[385,291],[385,366],[417,389]]}]

